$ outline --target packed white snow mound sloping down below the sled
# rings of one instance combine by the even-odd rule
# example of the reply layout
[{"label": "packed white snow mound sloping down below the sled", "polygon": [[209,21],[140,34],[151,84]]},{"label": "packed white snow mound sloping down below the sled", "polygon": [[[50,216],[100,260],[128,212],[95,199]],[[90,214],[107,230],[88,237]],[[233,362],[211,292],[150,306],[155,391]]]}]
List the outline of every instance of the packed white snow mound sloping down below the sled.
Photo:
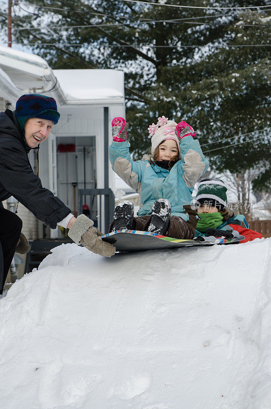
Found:
[{"label": "packed white snow mound sloping down below the sled", "polygon": [[4,409],[270,409],[271,239],[53,249],[0,301]]}]

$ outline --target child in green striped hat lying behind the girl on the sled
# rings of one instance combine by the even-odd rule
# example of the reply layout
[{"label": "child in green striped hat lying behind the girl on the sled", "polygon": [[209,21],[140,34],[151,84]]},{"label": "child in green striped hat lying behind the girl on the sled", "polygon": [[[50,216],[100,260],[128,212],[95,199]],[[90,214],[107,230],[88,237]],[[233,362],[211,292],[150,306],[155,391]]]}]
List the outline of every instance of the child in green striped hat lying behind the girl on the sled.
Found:
[{"label": "child in green striped hat lying behind the girl on the sled", "polygon": [[249,223],[243,215],[230,214],[227,209],[227,187],[220,179],[204,179],[199,182],[196,204],[201,220],[197,222],[195,237],[206,236],[207,229],[235,230],[244,236],[240,243],[263,237],[261,233],[249,229]]}]

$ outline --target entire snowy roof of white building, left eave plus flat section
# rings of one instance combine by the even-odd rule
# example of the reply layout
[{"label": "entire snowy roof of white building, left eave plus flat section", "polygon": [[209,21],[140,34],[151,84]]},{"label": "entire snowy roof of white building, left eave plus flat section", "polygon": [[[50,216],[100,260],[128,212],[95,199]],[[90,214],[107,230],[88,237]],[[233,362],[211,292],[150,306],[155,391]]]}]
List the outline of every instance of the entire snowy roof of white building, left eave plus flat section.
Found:
[{"label": "entire snowy roof of white building, left eave plus flat section", "polygon": [[[0,84],[11,102],[28,92],[54,97],[58,104],[124,103],[124,73],[118,70],[52,70],[35,54],[0,46]],[[57,81],[59,83],[57,83]],[[16,95],[17,88],[17,95]],[[5,91],[5,92],[4,92]],[[0,89],[7,99],[8,89]]]}]

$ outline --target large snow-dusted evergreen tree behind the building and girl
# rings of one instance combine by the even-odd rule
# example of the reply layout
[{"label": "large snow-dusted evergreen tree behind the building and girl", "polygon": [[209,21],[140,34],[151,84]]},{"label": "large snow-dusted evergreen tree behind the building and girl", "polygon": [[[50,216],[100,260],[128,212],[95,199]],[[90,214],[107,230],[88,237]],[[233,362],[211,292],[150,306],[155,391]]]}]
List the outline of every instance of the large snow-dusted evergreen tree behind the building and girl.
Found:
[{"label": "large snow-dusted evergreen tree behind the building and girl", "polygon": [[[31,44],[55,69],[124,70],[134,158],[150,146],[148,125],[165,115],[198,131],[213,169],[258,167],[254,188],[266,188],[269,48],[259,44],[269,43],[271,6],[236,9],[251,6],[245,0],[211,1],[208,9],[165,5],[206,7],[204,0],[149,3],[49,0],[44,6],[35,0],[36,7],[28,6],[35,16],[20,12],[14,18],[16,42]],[[218,5],[229,9],[210,8]]]}]

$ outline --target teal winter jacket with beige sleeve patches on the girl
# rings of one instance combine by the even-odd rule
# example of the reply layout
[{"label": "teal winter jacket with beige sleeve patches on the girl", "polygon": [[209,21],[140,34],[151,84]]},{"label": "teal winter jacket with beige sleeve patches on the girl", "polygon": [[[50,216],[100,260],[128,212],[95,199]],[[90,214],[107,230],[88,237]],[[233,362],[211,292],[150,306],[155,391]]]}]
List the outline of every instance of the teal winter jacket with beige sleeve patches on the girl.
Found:
[{"label": "teal winter jacket with beige sleeve patches on the girl", "polygon": [[170,171],[148,160],[132,161],[129,147],[127,141],[112,142],[109,159],[112,169],[141,195],[138,215],[151,214],[154,201],[166,198],[171,204],[171,214],[188,220],[183,206],[190,206],[195,183],[209,167],[199,142],[191,136],[181,139],[182,157]]}]

